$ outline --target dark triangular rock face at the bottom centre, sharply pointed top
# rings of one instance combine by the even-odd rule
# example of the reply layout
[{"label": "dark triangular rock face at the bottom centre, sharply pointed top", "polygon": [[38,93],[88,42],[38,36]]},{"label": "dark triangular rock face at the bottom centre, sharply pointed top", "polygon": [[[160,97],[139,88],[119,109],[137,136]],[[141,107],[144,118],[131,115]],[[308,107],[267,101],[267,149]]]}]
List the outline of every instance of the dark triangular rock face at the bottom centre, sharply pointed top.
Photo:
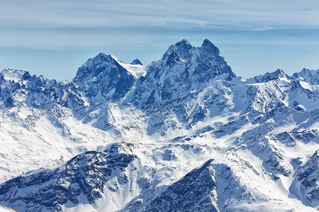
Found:
[{"label": "dark triangular rock face at the bottom centre, sharply pointed top", "polygon": [[209,168],[211,160],[185,175],[157,196],[142,211],[218,211],[217,199],[211,191],[216,190],[214,171]]}]

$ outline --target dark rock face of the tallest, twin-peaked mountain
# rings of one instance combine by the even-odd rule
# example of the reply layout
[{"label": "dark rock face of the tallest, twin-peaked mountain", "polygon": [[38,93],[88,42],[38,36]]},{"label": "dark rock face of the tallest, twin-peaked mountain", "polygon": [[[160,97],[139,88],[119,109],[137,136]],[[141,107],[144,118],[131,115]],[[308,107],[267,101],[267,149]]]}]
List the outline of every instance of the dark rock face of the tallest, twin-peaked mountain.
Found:
[{"label": "dark rock face of the tallest, twin-peaked mountain", "polygon": [[[182,40],[170,46],[162,60],[152,62],[147,75],[138,82],[135,95],[140,97],[147,92],[150,95],[146,102],[155,98],[164,104],[189,93],[191,88],[198,88],[198,83],[207,83],[223,73],[235,77],[211,42],[205,40],[201,47],[192,47]],[[148,105],[145,100],[141,101],[142,105]]]}]

